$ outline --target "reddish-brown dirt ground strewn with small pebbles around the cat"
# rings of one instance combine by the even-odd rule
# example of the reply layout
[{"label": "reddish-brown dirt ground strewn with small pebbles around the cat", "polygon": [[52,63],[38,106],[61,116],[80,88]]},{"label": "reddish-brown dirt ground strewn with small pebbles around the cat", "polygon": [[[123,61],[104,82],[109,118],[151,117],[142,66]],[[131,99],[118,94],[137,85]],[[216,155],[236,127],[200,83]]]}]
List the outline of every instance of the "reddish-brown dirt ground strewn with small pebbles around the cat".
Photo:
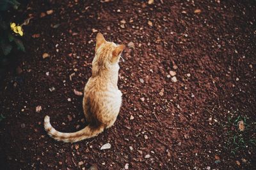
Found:
[{"label": "reddish-brown dirt ground strewn with small pebbles around the cat", "polygon": [[[255,1],[31,1],[22,8],[14,20],[33,19],[23,27],[26,53],[1,80],[1,169],[256,169]],[[96,138],[54,141],[45,115],[63,132],[86,125],[83,96],[73,90],[83,91],[92,74],[97,32],[127,45],[120,114]],[[111,148],[100,150],[106,143]]]}]

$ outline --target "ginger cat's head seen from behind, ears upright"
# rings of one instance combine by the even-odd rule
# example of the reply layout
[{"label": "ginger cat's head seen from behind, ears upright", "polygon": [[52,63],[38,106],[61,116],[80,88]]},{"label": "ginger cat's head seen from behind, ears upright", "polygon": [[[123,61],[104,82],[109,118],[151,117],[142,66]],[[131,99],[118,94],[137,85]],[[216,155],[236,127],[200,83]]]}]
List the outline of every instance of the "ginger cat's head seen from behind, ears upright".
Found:
[{"label": "ginger cat's head seen from behind, ears upright", "polygon": [[101,68],[115,66],[119,62],[120,55],[124,48],[125,45],[116,45],[113,42],[108,42],[102,34],[98,33],[96,36],[95,57],[92,66]]}]

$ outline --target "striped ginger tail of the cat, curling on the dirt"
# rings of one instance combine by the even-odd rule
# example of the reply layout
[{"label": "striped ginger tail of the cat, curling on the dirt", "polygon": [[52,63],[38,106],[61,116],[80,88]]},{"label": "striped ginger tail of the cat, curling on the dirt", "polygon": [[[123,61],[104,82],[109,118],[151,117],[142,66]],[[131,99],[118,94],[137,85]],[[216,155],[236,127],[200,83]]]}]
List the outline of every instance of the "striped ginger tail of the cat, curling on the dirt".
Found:
[{"label": "striped ginger tail of the cat, curling on the dirt", "polygon": [[104,127],[102,125],[99,125],[98,127],[92,127],[91,125],[88,125],[84,127],[84,129],[81,129],[77,132],[72,133],[63,133],[56,131],[50,123],[50,117],[45,116],[44,118],[44,129],[45,131],[51,136],[52,138],[56,139],[57,141],[63,141],[63,142],[77,142],[81,141],[83,139],[92,138],[94,136],[97,136],[100,132],[104,131]]}]

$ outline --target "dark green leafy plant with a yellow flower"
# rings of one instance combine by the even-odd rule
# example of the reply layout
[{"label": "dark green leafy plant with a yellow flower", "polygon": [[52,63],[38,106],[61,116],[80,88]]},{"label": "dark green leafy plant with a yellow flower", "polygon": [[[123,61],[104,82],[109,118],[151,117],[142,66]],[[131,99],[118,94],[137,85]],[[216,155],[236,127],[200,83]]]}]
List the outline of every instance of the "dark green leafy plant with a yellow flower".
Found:
[{"label": "dark green leafy plant with a yellow flower", "polygon": [[7,10],[10,7],[17,9],[19,2],[16,0],[1,0],[0,1],[0,47],[1,55],[8,55],[12,52],[13,47],[17,46],[17,50],[25,52],[22,41],[18,38],[23,35],[22,25],[11,23],[6,18]]}]

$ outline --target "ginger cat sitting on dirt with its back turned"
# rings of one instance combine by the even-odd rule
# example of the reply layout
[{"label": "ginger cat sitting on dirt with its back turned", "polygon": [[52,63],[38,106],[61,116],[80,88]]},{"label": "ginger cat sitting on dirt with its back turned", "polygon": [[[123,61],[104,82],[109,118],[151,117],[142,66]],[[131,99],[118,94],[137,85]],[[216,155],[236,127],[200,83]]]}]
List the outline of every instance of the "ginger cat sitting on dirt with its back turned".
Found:
[{"label": "ginger cat sitting on dirt with its back turned", "polygon": [[77,132],[56,131],[49,116],[44,118],[45,131],[52,138],[63,142],[77,142],[92,138],[111,127],[120,111],[122,92],[118,90],[118,62],[125,45],[116,45],[98,33],[95,57],[92,62],[92,76],[84,87],[83,110],[89,125]]}]

